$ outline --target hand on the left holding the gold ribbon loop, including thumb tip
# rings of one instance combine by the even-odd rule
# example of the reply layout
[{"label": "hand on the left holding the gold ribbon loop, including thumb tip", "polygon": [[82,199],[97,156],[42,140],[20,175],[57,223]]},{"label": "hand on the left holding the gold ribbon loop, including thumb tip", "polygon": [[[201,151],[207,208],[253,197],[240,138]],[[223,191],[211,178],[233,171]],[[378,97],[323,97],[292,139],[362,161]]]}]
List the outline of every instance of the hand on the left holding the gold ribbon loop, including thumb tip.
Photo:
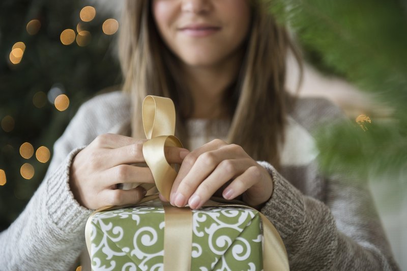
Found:
[{"label": "hand on the left holding the gold ribbon loop, including thumb tip", "polygon": [[[117,189],[119,183],[154,183],[149,168],[132,164],[143,163],[142,145],[146,140],[119,134],[102,134],[73,159],[70,187],[78,203],[88,209],[139,202],[145,189]],[[176,147],[165,149],[170,164],[181,164],[188,150]]]}]

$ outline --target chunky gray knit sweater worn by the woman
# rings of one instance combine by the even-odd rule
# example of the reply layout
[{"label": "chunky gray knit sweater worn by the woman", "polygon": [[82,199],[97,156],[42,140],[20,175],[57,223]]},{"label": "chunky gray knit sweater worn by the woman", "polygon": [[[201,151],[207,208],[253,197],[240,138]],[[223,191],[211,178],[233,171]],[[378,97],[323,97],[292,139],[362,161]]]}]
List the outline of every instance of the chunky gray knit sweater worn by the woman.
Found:
[{"label": "chunky gray knit sweater worn by the woman", "polygon": [[[44,181],[18,219],[0,233],[0,270],[75,269],[91,210],[70,191],[72,158],[99,134],[128,130],[130,107],[121,92],[99,95],[80,107],[54,145]],[[318,172],[310,131],[340,115],[326,100],[298,101],[281,146],[282,170],[259,162],[274,182],[261,211],[280,233],[292,270],[398,270],[367,183]],[[207,121],[191,120],[187,128],[193,149],[224,139],[228,124],[208,130]]]}]

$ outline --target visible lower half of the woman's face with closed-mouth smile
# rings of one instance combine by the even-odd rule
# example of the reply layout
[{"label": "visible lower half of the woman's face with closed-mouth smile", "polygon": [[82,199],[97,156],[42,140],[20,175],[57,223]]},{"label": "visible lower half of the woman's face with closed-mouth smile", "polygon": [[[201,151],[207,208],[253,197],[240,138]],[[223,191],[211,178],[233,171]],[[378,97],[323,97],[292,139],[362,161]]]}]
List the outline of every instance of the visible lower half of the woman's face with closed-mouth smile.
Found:
[{"label": "visible lower half of the woman's face with closed-mouth smile", "polygon": [[251,21],[247,0],[154,0],[152,13],[165,45],[191,68],[219,69],[240,58]]}]

